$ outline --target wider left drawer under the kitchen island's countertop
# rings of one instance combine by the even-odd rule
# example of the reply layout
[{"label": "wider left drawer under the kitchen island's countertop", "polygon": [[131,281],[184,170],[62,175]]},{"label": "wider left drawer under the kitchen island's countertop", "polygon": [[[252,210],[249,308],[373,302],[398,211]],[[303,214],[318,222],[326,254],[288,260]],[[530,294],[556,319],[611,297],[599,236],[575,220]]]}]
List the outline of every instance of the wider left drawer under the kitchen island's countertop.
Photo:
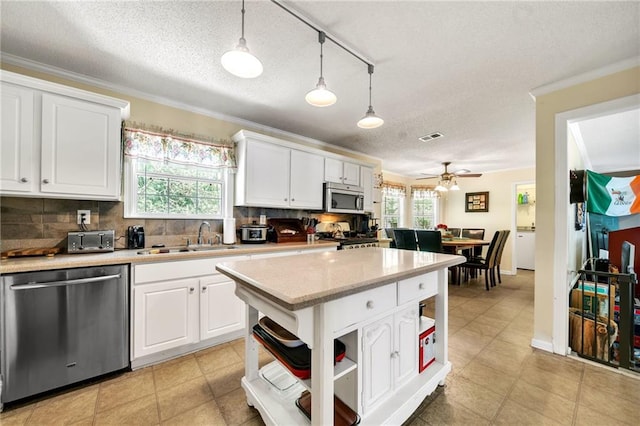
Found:
[{"label": "wider left drawer under the kitchen island's countertop", "polygon": [[327,303],[332,329],[348,327],[396,306],[396,283]]}]

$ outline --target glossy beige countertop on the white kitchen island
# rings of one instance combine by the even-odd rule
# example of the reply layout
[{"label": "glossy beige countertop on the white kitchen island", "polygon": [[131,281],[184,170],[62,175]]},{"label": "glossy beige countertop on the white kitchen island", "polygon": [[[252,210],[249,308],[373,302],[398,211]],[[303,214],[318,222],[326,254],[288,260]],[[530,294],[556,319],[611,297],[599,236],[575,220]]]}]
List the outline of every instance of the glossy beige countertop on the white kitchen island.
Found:
[{"label": "glossy beige countertop on the white kitchen island", "polygon": [[463,263],[462,256],[368,247],[250,261],[216,269],[288,310]]}]

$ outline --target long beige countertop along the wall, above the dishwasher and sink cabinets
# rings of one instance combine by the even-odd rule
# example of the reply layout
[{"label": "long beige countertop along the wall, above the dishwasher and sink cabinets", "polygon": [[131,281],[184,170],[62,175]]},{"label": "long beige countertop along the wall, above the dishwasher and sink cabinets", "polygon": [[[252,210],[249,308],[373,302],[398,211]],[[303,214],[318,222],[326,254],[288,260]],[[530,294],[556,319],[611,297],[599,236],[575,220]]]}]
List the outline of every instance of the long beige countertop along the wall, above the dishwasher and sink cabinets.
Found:
[{"label": "long beige countertop along the wall, above the dishwasher and sink cabinets", "polygon": [[0,260],[0,274],[45,271],[65,268],[82,268],[85,266],[118,265],[126,263],[154,263],[174,260],[229,257],[287,250],[320,249],[330,246],[337,247],[338,243],[333,241],[316,241],[313,244],[307,244],[306,242],[279,244],[234,244],[235,248],[233,249],[159,254],[138,254],[140,250],[116,250],[109,253],[58,254],[52,257],[30,256]]}]

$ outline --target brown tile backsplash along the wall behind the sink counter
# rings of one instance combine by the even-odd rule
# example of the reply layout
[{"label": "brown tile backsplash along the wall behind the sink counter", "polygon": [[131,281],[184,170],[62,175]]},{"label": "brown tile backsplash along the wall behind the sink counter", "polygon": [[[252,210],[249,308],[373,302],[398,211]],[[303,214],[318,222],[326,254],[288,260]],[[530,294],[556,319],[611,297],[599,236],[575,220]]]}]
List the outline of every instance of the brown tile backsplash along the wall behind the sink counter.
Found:
[{"label": "brown tile backsplash along the wall behind the sink counter", "polygon": [[[91,210],[89,230],[115,230],[115,248],[127,246],[127,227],[142,225],[146,246],[184,245],[196,241],[201,219],[125,219],[124,203],[118,201],[57,200],[0,197],[0,251],[67,247],[67,233],[79,231],[77,210]],[[317,213],[317,212],[316,212]],[[313,212],[287,209],[235,207],[236,227],[267,217],[317,217]],[[222,234],[222,220],[209,220],[211,232]],[[205,237],[208,236],[205,234]]]}]

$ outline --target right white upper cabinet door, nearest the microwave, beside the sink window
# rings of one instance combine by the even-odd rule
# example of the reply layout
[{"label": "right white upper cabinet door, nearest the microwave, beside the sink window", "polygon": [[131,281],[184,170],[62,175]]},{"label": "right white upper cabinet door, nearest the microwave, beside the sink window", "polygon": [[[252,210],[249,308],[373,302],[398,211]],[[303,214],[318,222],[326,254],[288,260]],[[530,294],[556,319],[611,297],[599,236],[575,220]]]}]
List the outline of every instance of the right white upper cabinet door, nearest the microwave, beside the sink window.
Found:
[{"label": "right white upper cabinet door, nearest the microwave, beside the sink window", "polygon": [[290,206],[321,210],[323,181],[324,158],[292,149]]}]

